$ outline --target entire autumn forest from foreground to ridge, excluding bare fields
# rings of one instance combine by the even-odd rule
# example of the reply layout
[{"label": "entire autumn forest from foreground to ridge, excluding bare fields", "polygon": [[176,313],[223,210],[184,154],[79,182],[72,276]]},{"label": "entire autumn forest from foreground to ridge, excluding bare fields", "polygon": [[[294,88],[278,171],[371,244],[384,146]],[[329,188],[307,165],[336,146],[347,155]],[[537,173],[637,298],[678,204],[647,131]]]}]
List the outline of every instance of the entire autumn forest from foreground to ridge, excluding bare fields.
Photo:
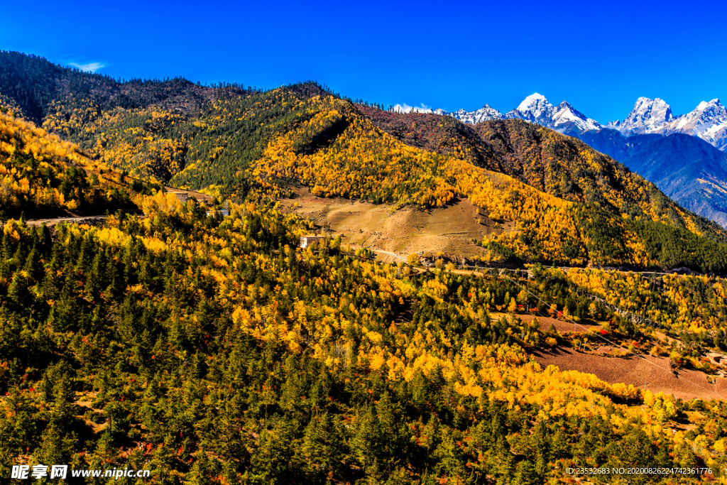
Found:
[{"label": "entire autumn forest from foreground to ridge, excluding bare fields", "polygon": [[[727,406],[712,399],[724,369],[707,358],[727,350],[725,231],[608,157],[519,121],[481,131],[371,111],[314,83],[129,84],[0,57],[0,476],[70,464],[152,473],[87,484],[727,477]],[[159,183],[202,188],[230,216]],[[341,234],[300,249],[316,227],[281,212],[293,184],[392,212],[467,197],[512,228],[477,241],[484,262],[527,273],[427,269],[417,254],[382,264]],[[105,212],[100,227],[20,217]],[[606,344],[626,354],[611,367],[661,358],[659,372],[709,389],[682,400],[535,360]]]}]

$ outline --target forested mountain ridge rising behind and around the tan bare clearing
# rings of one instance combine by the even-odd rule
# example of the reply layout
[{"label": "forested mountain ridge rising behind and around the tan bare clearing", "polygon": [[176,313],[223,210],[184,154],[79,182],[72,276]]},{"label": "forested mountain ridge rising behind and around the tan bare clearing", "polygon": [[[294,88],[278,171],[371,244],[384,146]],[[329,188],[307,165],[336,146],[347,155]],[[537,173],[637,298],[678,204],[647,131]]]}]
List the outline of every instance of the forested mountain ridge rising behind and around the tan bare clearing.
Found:
[{"label": "forested mountain ridge rising behind and around the tan bare clearing", "polygon": [[[38,84],[28,99],[47,101],[45,129],[142,180],[238,201],[286,196],[291,183],[303,183],[316,195],[394,210],[467,197],[491,220],[514,225],[480,241],[491,259],[727,269],[723,228],[607,156],[537,125],[508,120],[472,128],[447,116],[399,115],[315,83],[268,92],[180,79],[119,83],[3,55],[9,79]],[[40,79],[76,84],[57,81],[63,89],[49,92]],[[8,96],[22,106],[16,91]]]}]

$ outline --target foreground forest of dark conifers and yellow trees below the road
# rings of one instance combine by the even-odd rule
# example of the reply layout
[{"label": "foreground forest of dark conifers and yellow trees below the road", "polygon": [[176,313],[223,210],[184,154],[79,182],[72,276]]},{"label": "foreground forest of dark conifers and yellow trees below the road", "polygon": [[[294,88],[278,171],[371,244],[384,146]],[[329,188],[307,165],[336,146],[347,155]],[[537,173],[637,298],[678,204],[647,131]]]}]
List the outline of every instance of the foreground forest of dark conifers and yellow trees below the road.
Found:
[{"label": "foreground forest of dark conifers and yellow trees below the road", "polygon": [[[292,249],[306,230],[252,204],[224,221],[188,204],[103,229],[6,225],[1,473],[14,459],[148,468],[160,484],[722,473],[722,403],[543,369],[526,349],[557,333],[488,316],[517,312],[515,297],[531,306],[526,289],[551,309],[605,314],[589,297],[545,274],[417,274],[337,240]],[[635,337],[619,328],[613,338]],[[674,428],[685,419],[698,428]]]}]

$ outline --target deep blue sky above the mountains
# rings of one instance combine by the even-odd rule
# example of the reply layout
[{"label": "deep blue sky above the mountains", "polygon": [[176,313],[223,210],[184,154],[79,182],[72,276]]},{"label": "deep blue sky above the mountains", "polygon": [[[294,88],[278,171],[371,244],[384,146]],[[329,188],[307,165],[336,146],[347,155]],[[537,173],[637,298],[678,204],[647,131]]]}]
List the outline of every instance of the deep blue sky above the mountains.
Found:
[{"label": "deep blue sky above the mountains", "polygon": [[[113,77],[276,87],[509,111],[539,92],[598,121],[639,96],[727,101],[726,2],[6,2],[0,49]],[[103,66],[103,67],[100,67]]]}]

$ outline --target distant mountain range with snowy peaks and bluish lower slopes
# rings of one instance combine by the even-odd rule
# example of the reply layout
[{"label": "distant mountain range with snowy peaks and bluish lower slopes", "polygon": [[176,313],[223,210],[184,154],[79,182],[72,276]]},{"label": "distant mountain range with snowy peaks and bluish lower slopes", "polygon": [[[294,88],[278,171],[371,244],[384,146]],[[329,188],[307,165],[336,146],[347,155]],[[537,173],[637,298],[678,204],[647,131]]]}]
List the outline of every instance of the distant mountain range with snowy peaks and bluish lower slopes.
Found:
[{"label": "distant mountain range with snowy peaks and bluish lower slopes", "polygon": [[465,124],[522,119],[577,137],[651,180],[683,207],[727,227],[727,110],[714,99],[674,116],[664,100],[640,97],[622,121],[601,124],[538,93],[503,114],[489,105],[448,113]]}]

